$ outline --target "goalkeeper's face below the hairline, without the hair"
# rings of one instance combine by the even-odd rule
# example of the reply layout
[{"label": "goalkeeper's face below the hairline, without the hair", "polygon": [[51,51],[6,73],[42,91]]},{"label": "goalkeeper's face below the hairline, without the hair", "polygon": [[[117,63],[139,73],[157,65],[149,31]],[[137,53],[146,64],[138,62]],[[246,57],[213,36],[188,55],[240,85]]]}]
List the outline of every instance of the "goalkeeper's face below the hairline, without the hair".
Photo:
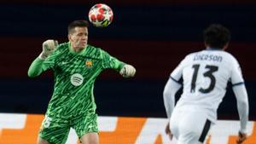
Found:
[{"label": "goalkeeper's face below the hairline, without the hair", "polygon": [[80,51],[87,46],[87,27],[75,27],[73,32],[68,34],[68,39],[74,51]]}]

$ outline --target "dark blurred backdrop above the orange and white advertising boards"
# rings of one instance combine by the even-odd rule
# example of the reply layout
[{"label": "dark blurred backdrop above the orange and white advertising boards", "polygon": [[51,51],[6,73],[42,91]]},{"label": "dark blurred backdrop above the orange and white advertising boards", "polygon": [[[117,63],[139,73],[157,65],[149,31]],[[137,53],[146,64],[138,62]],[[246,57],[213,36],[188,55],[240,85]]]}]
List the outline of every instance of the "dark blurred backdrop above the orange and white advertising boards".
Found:
[{"label": "dark blurred backdrop above the orange and white advertising boards", "polygon": [[[135,78],[102,72],[95,85],[99,115],[166,117],[162,91],[170,72],[190,52],[204,49],[203,29],[230,28],[229,51],[241,64],[256,119],[256,3],[253,0],[1,0],[0,112],[44,113],[53,91],[52,72],[27,78],[27,69],[49,38],[67,41],[67,25],[85,19],[92,5],[107,3],[114,13],[106,28],[89,28],[89,43],[137,68]],[[228,87],[219,118],[238,119]]]}]

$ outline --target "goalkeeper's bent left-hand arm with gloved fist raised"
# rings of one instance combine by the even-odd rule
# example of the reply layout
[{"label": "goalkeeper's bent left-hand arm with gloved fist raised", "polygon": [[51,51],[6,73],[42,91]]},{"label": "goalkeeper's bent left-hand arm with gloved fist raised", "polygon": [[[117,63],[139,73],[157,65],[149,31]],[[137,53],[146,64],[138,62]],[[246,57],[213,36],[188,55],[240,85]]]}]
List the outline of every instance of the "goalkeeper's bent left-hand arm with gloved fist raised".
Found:
[{"label": "goalkeeper's bent left-hand arm with gloved fist raised", "polygon": [[43,43],[43,51],[38,56],[38,58],[33,60],[27,72],[28,77],[37,77],[49,68],[49,65],[44,65],[44,60],[46,60],[49,57],[49,55],[53,53],[57,46],[58,42],[54,40],[47,40]]}]

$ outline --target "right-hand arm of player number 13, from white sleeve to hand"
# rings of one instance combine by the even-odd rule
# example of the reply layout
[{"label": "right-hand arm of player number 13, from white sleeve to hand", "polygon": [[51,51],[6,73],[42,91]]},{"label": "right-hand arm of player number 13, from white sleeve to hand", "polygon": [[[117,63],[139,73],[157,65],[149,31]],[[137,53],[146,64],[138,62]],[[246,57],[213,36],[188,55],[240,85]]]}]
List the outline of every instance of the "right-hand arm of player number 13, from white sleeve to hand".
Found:
[{"label": "right-hand arm of player number 13, from white sleeve to hand", "polygon": [[238,134],[237,143],[241,143],[245,141],[247,138],[247,121],[248,121],[248,113],[249,113],[249,104],[248,104],[248,96],[247,89],[244,84],[244,80],[241,74],[241,68],[236,60],[233,62],[234,68],[231,73],[231,83],[233,85],[233,91],[236,95],[237,101],[237,110],[239,113],[239,118],[241,122],[241,127]]}]

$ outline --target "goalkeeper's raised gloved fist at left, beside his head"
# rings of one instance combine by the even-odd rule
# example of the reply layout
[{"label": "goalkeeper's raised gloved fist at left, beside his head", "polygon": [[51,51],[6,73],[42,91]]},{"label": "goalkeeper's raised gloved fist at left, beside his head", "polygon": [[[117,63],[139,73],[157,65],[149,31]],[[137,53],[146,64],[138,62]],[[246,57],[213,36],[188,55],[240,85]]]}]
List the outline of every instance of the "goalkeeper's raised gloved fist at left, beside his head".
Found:
[{"label": "goalkeeper's raised gloved fist at left, beside his head", "polygon": [[43,51],[39,58],[46,59],[58,47],[58,41],[49,39],[43,43]]}]

